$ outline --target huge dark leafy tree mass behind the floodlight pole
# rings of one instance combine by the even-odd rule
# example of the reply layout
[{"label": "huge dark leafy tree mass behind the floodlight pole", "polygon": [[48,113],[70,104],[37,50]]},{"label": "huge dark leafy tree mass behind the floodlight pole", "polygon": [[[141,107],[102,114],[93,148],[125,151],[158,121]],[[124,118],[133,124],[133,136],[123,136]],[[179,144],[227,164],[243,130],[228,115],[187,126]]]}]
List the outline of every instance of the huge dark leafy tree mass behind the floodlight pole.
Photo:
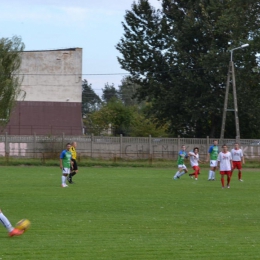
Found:
[{"label": "huge dark leafy tree mass behind the floodlight pole", "polygon": [[[118,61],[140,85],[138,98],[151,102],[150,113],[162,125],[170,122],[172,133],[220,135],[228,50],[250,43],[234,53],[241,137],[260,134],[260,119],[252,114],[260,110],[260,74],[254,70],[259,11],[259,1],[252,0],[162,0],[162,10],[139,0],[126,12]],[[228,115],[226,137],[235,136],[234,125]]]}]

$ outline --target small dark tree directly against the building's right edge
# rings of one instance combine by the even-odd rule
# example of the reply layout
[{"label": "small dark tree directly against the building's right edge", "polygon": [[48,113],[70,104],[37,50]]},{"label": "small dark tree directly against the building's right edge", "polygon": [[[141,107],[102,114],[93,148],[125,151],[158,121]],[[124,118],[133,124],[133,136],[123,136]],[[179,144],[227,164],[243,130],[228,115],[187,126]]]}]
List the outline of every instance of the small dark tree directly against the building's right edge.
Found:
[{"label": "small dark tree directly against the building's right edge", "polygon": [[100,97],[92,89],[86,79],[82,82],[82,116],[95,112],[101,105]]}]

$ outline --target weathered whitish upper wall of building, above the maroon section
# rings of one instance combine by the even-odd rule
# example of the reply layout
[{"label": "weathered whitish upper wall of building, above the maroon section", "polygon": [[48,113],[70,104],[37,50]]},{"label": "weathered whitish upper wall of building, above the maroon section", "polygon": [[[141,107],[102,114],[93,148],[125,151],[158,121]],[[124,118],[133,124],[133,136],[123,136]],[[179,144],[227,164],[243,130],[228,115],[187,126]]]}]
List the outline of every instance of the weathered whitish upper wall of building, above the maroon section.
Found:
[{"label": "weathered whitish upper wall of building, above the maroon section", "polygon": [[25,51],[19,75],[18,101],[81,102],[82,49]]}]

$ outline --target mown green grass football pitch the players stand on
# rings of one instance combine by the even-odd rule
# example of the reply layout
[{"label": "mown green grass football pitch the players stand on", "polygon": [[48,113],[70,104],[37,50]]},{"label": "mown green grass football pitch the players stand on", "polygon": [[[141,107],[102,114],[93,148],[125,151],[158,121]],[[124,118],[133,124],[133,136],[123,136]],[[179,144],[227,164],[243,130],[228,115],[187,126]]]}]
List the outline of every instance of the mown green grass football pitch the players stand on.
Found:
[{"label": "mown green grass football pitch the players stand on", "polygon": [[80,168],[61,188],[58,167],[1,167],[4,214],[31,229],[9,238],[0,226],[0,259],[259,259],[260,178],[234,173],[198,181],[175,169]]}]

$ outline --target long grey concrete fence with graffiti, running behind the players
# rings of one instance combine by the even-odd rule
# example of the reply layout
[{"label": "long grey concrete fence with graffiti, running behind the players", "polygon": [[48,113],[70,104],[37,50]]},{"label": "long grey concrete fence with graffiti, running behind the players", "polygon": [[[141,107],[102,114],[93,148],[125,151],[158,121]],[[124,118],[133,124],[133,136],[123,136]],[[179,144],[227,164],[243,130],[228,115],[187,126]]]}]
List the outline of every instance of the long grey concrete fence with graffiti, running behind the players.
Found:
[{"label": "long grey concrete fence with graffiti, running behind the players", "polygon": [[[154,138],[154,137],[109,137],[109,136],[42,136],[0,135],[0,157],[58,158],[66,143],[76,141],[80,158],[123,158],[123,159],[176,159],[182,144],[190,151],[200,149],[202,160],[206,157],[213,139],[205,138]],[[218,140],[220,141],[220,140]],[[231,149],[235,139],[224,139],[220,143]],[[260,158],[260,140],[241,139],[241,148],[246,158]]]}]

